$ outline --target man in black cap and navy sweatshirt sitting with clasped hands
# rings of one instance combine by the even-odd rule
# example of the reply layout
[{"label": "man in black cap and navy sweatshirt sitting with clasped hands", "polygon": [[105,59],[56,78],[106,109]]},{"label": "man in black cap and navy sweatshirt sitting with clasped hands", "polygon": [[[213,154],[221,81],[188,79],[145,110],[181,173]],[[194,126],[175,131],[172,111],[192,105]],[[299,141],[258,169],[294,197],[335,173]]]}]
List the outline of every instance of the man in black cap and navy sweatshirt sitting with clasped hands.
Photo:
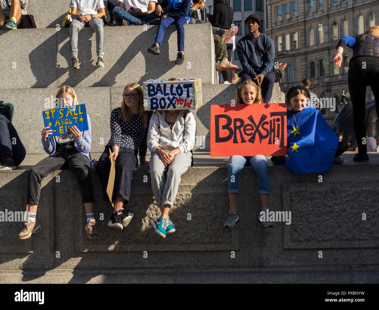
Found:
[{"label": "man in black cap and navy sweatshirt sitting with clasped hands", "polygon": [[245,22],[249,33],[236,45],[238,59],[242,65],[241,83],[247,79],[253,80],[262,88],[263,102],[267,103],[273,95],[276,79],[273,71],[274,41],[258,31],[260,17],[257,14],[249,15]]}]

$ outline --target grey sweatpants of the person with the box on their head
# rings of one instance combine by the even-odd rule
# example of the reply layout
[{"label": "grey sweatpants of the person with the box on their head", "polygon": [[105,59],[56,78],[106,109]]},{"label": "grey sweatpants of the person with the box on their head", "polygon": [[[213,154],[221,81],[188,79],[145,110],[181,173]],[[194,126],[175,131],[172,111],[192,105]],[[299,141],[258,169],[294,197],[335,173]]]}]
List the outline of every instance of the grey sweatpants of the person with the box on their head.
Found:
[{"label": "grey sweatpants of the person with the box on their head", "polygon": [[[149,162],[149,173],[151,175],[151,187],[157,202],[157,206],[168,204],[170,208],[174,204],[178,192],[180,176],[191,166],[191,152],[179,153],[174,156],[168,168],[164,168],[161,157],[152,153]],[[167,177],[164,177],[167,172]]]}]

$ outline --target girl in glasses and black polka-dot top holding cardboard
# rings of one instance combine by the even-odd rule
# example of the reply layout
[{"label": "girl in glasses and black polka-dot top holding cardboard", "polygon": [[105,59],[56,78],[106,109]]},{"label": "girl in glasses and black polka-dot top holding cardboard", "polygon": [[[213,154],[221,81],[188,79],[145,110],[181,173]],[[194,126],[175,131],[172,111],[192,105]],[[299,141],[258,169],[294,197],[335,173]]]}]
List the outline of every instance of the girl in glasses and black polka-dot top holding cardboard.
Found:
[{"label": "girl in glasses and black polka-dot top holding cardboard", "polygon": [[[123,206],[130,198],[133,173],[138,165],[137,154],[139,153],[141,165],[149,164],[146,160],[146,139],[152,114],[144,109],[143,91],[139,84],[127,84],[122,97],[121,106],[111,112],[111,139],[96,165],[103,187],[103,199],[110,202],[106,192],[111,168],[110,156],[115,160],[116,176],[112,196],[114,210],[108,226],[121,230],[130,223],[134,215],[124,210]],[[109,152],[110,148],[112,154]]]}]

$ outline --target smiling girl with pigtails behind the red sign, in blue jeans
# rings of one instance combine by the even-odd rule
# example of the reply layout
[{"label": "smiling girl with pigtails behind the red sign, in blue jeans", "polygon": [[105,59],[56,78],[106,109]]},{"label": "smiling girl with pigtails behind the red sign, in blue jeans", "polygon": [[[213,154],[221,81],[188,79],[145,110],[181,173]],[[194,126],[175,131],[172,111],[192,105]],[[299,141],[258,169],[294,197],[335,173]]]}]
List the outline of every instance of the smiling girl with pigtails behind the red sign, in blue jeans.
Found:
[{"label": "smiling girl with pigtails behind the red sign, in blue jeans", "polygon": [[[261,89],[253,81],[246,80],[241,83],[237,89],[236,104],[261,104],[263,103]],[[268,103],[270,106],[272,101]],[[228,162],[228,193],[229,193],[229,213],[227,215],[224,227],[234,227],[240,216],[236,209],[237,193],[238,193],[238,180],[240,177],[241,169],[244,165],[251,165],[254,167],[255,173],[258,176],[258,193],[260,196],[262,211],[266,212],[268,201],[268,167],[267,158],[264,155],[255,156],[241,156],[233,155],[229,158]],[[273,227],[273,222],[258,221],[265,227]]]}]

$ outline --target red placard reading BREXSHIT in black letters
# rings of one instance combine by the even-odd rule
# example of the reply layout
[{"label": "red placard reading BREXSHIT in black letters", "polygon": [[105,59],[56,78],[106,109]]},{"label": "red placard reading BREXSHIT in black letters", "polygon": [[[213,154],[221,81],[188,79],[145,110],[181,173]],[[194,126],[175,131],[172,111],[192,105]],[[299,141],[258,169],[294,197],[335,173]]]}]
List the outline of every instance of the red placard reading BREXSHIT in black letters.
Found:
[{"label": "red placard reading BREXSHIT in black letters", "polygon": [[211,105],[211,156],[287,154],[285,103]]}]

